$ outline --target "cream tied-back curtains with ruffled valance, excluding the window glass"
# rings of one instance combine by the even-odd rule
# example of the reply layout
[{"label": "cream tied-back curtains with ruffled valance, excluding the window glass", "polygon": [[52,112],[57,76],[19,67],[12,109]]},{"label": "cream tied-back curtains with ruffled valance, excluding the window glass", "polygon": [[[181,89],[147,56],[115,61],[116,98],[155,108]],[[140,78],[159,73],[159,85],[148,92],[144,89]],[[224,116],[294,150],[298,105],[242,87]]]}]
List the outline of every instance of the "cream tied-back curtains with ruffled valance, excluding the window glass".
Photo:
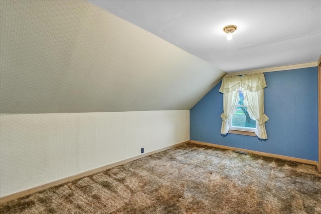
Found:
[{"label": "cream tied-back curtains with ruffled valance, excluding the window glass", "polygon": [[239,101],[238,89],[244,95],[244,105],[252,120],[256,121],[255,134],[260,139],[267,139],[265,122],[269,119],[264,114],[264,88],[266,87],[264,74],[224,77],[220,92],[223,93],[223,113],[221,134],[229,131],[228,119],[236,112]]}]

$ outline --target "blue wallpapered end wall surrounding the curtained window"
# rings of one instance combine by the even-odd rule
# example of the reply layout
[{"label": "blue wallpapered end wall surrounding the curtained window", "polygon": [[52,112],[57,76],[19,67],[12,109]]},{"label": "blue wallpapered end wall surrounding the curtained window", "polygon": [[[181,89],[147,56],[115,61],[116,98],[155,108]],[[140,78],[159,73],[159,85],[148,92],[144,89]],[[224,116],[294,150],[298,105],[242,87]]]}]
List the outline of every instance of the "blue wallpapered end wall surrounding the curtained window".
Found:
[{"label": "blue wallpapered end wall surrounding the curtained window", "polygon": [[264,75],[267,140],[221,135],[222,81],[190,110],[190,139],[317,161],[317,67]]}]

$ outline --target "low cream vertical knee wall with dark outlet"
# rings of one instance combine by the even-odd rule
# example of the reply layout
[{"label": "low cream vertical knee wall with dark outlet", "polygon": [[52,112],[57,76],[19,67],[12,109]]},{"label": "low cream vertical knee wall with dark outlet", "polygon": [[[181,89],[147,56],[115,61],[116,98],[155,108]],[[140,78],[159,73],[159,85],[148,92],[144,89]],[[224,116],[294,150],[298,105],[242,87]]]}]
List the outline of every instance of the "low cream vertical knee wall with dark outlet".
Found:
[{"label": "low cream vertical knee wall with dark outlet", "polygon": [[189,139],[189,110],[0,114],[0,197]]}]

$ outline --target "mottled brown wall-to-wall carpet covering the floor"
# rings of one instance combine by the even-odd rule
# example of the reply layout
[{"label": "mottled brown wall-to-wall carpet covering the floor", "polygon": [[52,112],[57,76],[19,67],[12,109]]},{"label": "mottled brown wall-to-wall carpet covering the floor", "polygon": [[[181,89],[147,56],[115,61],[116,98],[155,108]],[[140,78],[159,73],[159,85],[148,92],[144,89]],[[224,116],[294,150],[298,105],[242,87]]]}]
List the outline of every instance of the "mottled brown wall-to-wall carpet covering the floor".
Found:
[{"label": "mottled brown wall-to-wall carpet covering the floor", "polygon": [[0,213],[321,213],[321,174],[189,143],[0,204]]}]

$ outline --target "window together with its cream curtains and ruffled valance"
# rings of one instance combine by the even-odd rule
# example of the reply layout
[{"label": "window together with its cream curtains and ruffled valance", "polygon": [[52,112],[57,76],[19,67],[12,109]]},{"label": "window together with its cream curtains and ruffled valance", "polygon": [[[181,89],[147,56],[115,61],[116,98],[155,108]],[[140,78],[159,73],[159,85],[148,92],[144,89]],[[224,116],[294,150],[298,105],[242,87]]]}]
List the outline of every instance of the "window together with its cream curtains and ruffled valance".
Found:
[{"label": "window together with its cream curtains and ruffled valance", "polygon": [[264,74],[223,78],[220,88],[223,93],[221,134],[238,132],[267,139],[265,122],[269,118],[264,114],[265,87]]}]

